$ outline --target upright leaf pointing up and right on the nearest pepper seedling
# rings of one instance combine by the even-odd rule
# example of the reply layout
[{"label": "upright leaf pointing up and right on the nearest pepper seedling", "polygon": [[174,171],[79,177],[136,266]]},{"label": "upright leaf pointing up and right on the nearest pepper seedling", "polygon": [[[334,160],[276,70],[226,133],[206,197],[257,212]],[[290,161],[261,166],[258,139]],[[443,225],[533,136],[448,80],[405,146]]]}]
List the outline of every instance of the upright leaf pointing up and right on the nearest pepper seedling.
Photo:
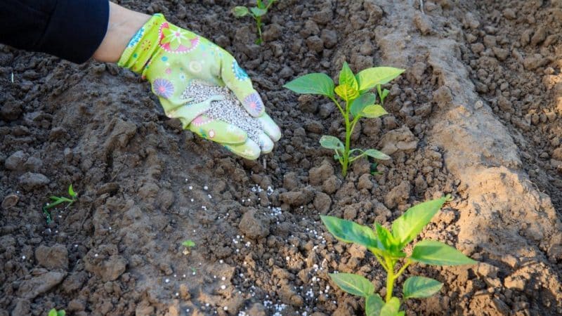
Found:
[{"label": "upright leaf pointing up and right on the nearest pepper seedling", "polygon": [[400,249],[417,237],[446,201],[447,197],[442,197],[417,204],[394,220],[392,235],[400,242]]}]

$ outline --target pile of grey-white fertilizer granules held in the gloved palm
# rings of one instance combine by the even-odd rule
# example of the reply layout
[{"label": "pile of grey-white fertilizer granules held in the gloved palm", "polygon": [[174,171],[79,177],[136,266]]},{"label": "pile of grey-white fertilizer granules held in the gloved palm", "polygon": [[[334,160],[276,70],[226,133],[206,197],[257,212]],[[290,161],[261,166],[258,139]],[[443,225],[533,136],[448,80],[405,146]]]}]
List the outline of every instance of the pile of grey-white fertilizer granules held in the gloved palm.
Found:
[{"label": "pile of grey-white fertilizer granules held in the gloved palm", "polygon": [[230,89],[221,86],[209,86],[193,81],[183,91],[181,98],[189,100],[188,104],[201,103],[211,96],[222,96],[223,100],[211,101],[211,107],[203,114],[211,119],[226,121],[246,131],[248,138],[259,144],[259,136],[263,133],[263,125],[255,117],[251,117]]}]

